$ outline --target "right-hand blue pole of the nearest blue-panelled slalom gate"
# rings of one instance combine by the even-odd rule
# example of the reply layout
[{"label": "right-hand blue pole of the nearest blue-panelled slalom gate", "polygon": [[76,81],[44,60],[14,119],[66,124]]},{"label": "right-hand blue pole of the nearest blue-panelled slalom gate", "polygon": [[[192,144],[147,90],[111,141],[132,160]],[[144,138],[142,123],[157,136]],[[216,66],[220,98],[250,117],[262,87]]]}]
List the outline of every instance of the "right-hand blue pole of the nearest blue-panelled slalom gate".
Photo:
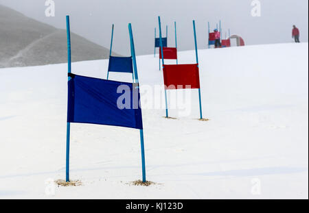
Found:
[{"label": "right-hand blue pole of the nearest blue-panelled slalom gate", "polygon": [[[134,47],[134,40],[133,40],[133,32],[132,26],[129,23],[128,29],[130,33],[130,46],[131,46],[131,54],[133,59],[133,68],[134,68],[134,75],[135,75],[135,83],[139,83],[139,77],[137,75],[137,64],[136,64],[136,55],[135,55],[135,47]],[[139,129],[139,135],[141,137],[141,165],[142,165],[142,172],[143,172],[143,182],[146,182],[146,166],[145,166],[145,147],[144,147],[144,131],[143,129]]]}]

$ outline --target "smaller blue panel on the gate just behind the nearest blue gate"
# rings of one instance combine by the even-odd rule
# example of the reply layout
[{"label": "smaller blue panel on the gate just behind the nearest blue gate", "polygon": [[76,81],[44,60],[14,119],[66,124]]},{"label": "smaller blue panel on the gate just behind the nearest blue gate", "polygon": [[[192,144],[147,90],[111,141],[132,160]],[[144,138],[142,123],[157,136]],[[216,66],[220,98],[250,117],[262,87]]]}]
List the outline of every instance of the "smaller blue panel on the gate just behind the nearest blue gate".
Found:
[{"label": "smaller blue panel on the gate just behind the nearest blue gate", "polygon": [[111,56],[108,63],[108,72],[133,73],[132,57]]}]

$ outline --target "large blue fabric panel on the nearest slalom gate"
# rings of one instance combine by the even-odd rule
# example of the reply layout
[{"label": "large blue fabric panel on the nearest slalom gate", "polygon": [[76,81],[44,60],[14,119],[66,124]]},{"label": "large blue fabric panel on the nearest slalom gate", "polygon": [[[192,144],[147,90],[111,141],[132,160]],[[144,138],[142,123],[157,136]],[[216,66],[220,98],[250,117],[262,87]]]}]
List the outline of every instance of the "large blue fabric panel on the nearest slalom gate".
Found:
[{"label": "large blue fabric panel on the nearest slalom gate", "polygon": [[[114,82],[93,77],[69,74],[68,82],[68,115],[69,123],[92,123],[98,125],[113,125],[119,127],[130,127],[143,129],[141,108],[139,102],[133,103],[133,94],[140,100],[138,84],[125,82]],[[127,88],[126,90],[117,89]],[[121,96],[129,94],[128,99]],[[122,93],[121,93],[122,92]],[[130,107],[118,108],[117,102],[130,101]],[[136,109],[133,108],[135,106]]]}]

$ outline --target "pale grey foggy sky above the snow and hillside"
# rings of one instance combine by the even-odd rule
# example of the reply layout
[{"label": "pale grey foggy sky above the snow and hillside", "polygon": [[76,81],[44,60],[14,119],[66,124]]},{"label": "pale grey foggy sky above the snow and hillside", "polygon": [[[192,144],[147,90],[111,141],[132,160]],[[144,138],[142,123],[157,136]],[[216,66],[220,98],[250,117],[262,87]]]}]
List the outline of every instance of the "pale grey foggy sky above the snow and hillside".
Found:
[{"label": "pale grey foggy sky above the snow and hillside", "polygon": [[[137,54],[154,51],[157,16],[163,36],[169,25],[169,46],[174,47],[174,21],[179,50],[194,49],[192,20],[196,20],[198,49],[207,47],[207,21],[211,29],[222,21],[223,36],[244,38],[247,45],[292,42],[292,26],[308,42],[308,0],[260,0],[262,16],[251,16],[252,0],[54,0],[56,16],[45,16],[45,0],[0,0],[0,4],[54,27],[65,29],[65,15],[71,16],[71,31],[109,49],[111,25],[115,24],[113,51],[130,55],[128,23],[133,25]],[[1,28],[0,28],[1,30]],[[158,34],[157,34],[158,35]]]}]

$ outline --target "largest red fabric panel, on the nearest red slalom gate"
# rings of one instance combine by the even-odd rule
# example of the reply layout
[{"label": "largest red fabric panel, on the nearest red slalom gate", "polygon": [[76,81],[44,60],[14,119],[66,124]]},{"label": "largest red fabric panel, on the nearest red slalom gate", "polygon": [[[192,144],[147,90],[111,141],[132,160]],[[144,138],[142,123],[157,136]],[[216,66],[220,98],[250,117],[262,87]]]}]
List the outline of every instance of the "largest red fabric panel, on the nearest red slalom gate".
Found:
[{"label": "largest red fabric panel, on the nearest red slalom gate", "polygon": [[198,64],[172,64],[163,65],[164,84],[166,89],[173,90],[182,86],[192,89],[200,88],[200,75]]}]

